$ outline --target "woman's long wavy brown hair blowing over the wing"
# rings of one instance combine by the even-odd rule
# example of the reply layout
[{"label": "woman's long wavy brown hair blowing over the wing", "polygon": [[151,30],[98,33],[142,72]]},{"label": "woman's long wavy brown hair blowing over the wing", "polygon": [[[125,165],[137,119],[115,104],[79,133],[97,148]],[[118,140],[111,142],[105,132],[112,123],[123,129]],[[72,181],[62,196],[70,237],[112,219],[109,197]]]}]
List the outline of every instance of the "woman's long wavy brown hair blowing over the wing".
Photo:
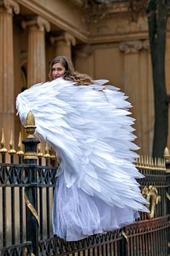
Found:
[{"label": "woman's long wavy brown hair blowing over the wing", "polygon": [[93,85],[94,81],[88,74],[81,74],[75,72],[73,68],[73,63],[71,59],[66,56],[57,56],[50,63],[50,72],[48,74],[49,80],[53,80],[53,65],[60,63],[66,69],[66,73],[63,76],[63,79],[75,82],[75,85]]}]

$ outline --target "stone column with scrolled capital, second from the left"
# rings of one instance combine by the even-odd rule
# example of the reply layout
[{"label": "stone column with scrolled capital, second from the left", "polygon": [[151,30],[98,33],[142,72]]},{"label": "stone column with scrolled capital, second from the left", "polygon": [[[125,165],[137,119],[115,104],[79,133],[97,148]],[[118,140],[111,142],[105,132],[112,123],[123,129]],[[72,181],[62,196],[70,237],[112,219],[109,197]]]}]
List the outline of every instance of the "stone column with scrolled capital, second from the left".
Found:
[{"label": "stone column with scrolled capital, second from the left", "polygon": [[22,21],[28,27],[28,71],[27,86],[46,81],[45,69],[45,30],[50,31],[50,23],[40,16]]}]

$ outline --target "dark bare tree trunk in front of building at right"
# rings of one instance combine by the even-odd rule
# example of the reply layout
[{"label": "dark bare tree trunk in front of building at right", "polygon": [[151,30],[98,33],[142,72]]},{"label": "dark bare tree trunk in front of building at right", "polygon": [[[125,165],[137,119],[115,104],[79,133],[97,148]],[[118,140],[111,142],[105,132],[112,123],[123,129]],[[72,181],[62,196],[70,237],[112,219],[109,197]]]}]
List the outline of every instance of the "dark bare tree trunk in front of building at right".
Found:
[{"label": "dark bare tree trunk in front of building at right", "polygon": [[168,103],[165,78],[166,24],[170,0],[128,0],[133,20],[145,10],[153,70],[155,124],[153,156],[162,157],[168,137]]}]

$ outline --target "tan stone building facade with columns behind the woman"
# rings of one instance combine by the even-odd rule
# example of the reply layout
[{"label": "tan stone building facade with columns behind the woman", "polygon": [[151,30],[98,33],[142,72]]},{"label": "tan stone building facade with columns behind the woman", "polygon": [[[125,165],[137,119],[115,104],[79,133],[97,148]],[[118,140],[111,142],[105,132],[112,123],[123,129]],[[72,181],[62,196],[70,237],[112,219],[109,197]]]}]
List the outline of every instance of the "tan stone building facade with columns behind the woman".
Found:
[{"label": "tan stone building facade with columns behind the woman", "polygon": [[[139,153],[151,155],[154,111],[148,26],[144,16],[131,20],[127,1],[98,3],[95,8],[86,0],[0,1],[0,127],[5,128],[6,141],[14,130],[17,142],[21,129],[17,94],[48,80],[50,61],[58,55],[69,56],[79,72],[107,79],[129,95]],[[168,34],[168,93],[169,61]]]}]

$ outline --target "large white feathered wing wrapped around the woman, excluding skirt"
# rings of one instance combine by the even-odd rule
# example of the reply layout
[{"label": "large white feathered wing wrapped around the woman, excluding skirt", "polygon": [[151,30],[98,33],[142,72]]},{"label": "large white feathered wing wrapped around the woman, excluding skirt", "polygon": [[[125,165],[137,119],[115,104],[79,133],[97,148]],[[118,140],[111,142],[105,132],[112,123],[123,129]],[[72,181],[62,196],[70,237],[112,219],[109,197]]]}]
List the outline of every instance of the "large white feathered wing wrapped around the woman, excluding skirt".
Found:
[{"label": "large white feathered wing wrapped around the woman, excluding skirt", "polygon": [[36,134],[47,139],[61,159],[67,187],[76,182],[88,195],[109,205],[148,211],[135,178],[143,177],[133,161],[134,119],[130,103],[107,81],[76,86],[62,78],[32,86],[17,97],[24,123],[31,110]]}]

